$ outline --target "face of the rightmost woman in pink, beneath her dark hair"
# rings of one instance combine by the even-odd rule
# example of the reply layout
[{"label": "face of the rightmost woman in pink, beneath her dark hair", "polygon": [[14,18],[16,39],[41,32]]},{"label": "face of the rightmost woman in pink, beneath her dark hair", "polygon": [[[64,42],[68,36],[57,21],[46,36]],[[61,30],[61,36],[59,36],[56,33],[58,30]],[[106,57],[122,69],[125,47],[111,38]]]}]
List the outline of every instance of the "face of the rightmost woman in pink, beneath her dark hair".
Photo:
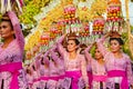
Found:
[{"label": "face of the rightmost woman in pink, beneath her dark hair", "polygon": [[111,40],[110,44],[111,44],[110,48],[111,48],[111,51],[112,51],[112,52],[117,52],[117,51],[120,51],[121,46],[120,46],[119,41],[116,41],[116,40]]}]

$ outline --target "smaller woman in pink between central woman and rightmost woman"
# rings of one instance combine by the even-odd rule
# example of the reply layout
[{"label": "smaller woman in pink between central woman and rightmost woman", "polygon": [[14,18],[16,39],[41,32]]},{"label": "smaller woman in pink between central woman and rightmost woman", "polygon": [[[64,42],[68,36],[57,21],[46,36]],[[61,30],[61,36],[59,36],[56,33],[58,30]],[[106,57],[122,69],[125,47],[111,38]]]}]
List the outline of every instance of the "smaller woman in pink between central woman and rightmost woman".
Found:
[{"label": "smaller woman in pink between central woman and rightmost woman", "polygon": [[100,52],[100,50],[98,49],[96,44],[95,44],[95,50],[94,50],[94,58],[92,58],[92,56],[89,53],[92,46],[93,44],[89,46],[85,49],[85,57],[92,70],[91,88],[92,89],[106,89],[105,81],[106,81],[108,76],[106,76],[106,71],[104,67],[104,58],[102,53]]}]

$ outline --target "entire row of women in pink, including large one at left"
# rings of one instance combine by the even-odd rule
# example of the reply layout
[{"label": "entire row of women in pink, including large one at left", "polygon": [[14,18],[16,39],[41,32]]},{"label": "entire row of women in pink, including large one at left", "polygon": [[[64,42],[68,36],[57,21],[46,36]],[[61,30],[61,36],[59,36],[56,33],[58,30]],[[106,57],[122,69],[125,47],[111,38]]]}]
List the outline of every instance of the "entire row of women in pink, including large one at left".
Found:
[{"label": "entire row of women in pink, including large one at left", "polygon": [[[0,89],[129,89],[133,86],[131,59],[122,52],[117,32],[109,32],[85,49],[75,37],[66,34],[24,69],[24,38],[14,12],[7,12],[0,22]],[[104,40],[110,37],[110,50]],[[95,47],[94,56],[90,55]],[[84,49],[84,50],[83,50]],[[27,76],[25,76],[27,75]],[[28,81],[28,82],[27,82]]]}]

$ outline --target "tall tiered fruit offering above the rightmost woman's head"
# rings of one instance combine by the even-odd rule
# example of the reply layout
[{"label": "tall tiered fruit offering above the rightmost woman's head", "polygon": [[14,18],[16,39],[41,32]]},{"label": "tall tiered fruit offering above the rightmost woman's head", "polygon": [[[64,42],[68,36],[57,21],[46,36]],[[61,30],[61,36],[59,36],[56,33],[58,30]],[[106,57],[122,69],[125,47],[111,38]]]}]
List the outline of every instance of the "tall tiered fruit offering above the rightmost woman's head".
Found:
[{"label": "tall tiered fruit offering above the rightmost woman's head", "polygon": [[111,0],[108,3],[108,18],[105,22],[105,30],[123,31],[124,19],[122,17],[121,1]]}]

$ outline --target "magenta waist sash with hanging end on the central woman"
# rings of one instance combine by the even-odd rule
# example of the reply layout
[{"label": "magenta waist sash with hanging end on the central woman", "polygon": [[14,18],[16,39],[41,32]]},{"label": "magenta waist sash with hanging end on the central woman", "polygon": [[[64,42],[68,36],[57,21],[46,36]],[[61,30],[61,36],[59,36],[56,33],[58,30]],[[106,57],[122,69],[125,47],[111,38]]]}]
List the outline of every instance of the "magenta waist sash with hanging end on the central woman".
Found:
[{"label": "magenta waist sash with hanging end on the central woman", "polygon": [[72,89],[78,89],[78,81],[79,78],[81,77],[81,71],[80,70],[66,71],[65,75],[66,77],[72,79]]}]

